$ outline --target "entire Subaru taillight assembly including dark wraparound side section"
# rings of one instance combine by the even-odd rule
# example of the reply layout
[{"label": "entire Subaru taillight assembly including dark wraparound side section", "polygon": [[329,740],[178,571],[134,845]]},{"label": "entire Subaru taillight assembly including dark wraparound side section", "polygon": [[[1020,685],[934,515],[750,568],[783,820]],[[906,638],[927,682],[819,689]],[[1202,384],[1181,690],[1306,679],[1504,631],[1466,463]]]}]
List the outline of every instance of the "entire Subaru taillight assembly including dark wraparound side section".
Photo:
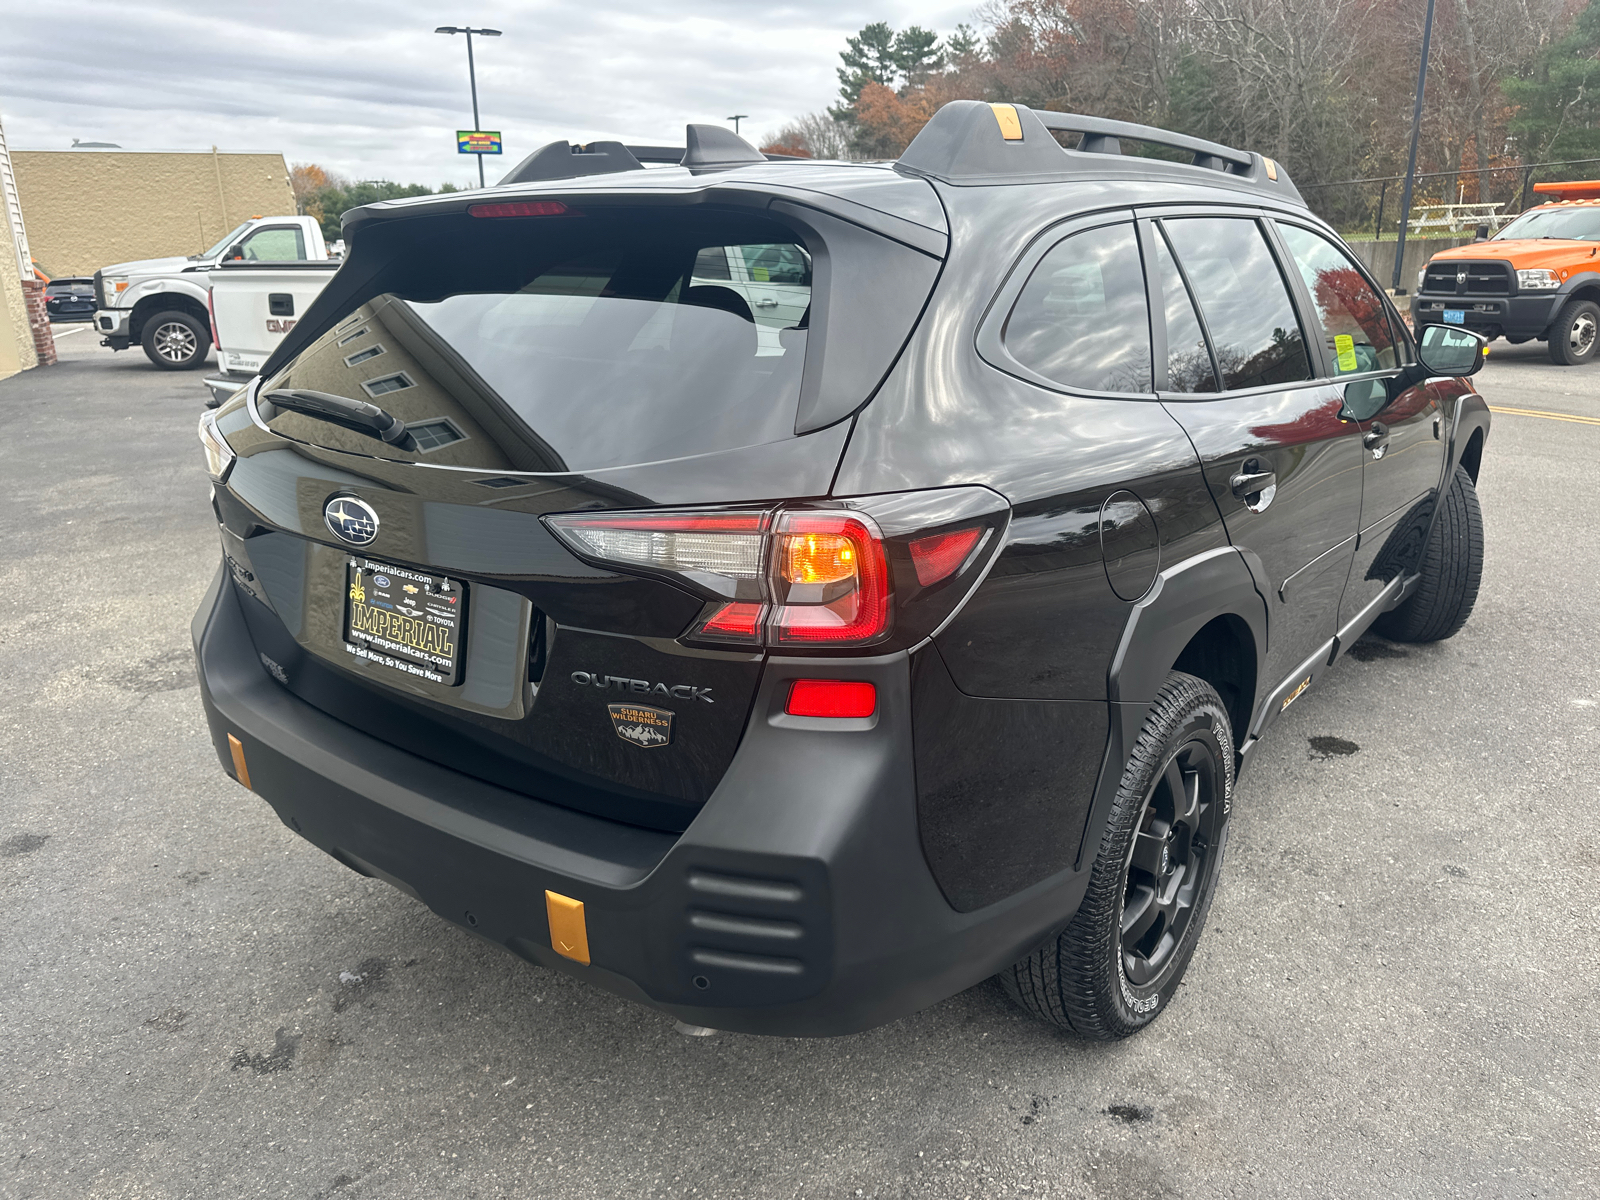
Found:
[{"label": "entire Subaru taillight assembly including dark wraparound side section", "polygon": [[579,558],[654,574],[706,606],[685,642],[786,651],[910,645],[934,632],[992,562],[1010,506],[987,488],[837,506],[650,509],[546,517]]}]

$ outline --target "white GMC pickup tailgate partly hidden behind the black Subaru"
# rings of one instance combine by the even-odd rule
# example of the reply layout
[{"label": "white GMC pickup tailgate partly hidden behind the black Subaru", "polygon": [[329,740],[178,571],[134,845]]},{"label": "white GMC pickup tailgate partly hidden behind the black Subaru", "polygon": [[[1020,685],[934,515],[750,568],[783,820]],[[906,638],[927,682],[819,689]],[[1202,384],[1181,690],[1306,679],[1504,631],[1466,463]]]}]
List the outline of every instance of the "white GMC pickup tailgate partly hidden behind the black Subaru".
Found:
[{"label": "white GMC pickup tailgate partly hidden behind the black Subaru", "polygon": [[221,368],[205,381],[211,389],[208,406],[216,408],[254,378],[338,269],[336,261],[243,261],[219,262],[206,272]]}]

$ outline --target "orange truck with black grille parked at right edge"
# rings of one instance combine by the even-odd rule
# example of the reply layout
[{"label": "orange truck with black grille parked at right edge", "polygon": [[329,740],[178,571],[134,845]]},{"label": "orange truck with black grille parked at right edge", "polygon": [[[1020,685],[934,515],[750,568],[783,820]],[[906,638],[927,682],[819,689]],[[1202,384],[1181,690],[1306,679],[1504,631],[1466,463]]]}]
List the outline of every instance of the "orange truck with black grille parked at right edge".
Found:
[{"label": "orange truck with black grille parked at right edge", "polygon": [[1534,184],[1530,208],[1488,242],[1429,259],[1411,322],[1466,325],[1510,342],[1538,338],[1562,366],[1600,349],[1600,179]]}]

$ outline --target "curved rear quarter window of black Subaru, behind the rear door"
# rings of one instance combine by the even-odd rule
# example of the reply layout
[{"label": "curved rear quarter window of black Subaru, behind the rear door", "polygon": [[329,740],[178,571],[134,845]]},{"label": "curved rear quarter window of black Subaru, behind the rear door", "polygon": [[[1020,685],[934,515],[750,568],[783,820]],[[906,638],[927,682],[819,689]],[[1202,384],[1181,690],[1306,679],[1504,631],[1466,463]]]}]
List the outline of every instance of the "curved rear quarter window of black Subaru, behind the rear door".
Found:
[{"label": "curved rear quarter window of black Subaru, behind the rear door", "polygon": [[1046,379],[1090,392],[1149,392],[1150,314],[1133,226],[1062,238],[1040,259],[1005,325],[1005,346]]}]

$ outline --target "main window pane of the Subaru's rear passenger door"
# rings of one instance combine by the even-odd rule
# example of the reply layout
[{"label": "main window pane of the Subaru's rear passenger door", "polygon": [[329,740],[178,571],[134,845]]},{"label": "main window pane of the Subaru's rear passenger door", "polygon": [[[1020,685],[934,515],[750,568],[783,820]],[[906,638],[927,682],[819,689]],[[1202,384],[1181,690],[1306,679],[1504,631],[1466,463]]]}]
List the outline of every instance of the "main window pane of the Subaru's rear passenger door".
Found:
[{"label": "main window pane of the Subaru's rear passenger door", "polygon": [[1163,224],[1211,331],[1222,387],[1310,379],[1294,306],[1256,222],[1208,216]]}]

